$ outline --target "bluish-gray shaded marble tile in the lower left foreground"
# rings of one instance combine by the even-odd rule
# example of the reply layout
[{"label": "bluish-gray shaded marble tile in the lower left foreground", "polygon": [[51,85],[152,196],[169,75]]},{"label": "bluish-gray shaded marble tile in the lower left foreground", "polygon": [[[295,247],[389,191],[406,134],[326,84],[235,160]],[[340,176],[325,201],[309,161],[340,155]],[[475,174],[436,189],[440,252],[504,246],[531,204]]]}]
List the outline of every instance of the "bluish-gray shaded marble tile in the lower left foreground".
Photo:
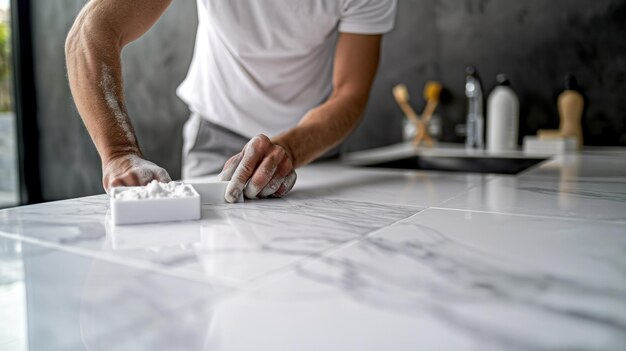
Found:
[{"label": "bluish-gray shaded marble tile in the lower left foreground", "polygon": [[225,293],[30,244],[20,261],[33,351],[201,350]]}]

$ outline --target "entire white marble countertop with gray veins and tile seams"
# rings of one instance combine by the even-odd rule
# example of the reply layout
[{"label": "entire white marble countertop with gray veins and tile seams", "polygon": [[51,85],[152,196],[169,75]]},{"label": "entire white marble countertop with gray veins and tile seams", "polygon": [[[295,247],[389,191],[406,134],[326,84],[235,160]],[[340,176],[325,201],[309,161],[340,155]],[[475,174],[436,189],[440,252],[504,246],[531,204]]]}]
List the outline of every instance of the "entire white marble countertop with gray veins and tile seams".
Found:
[{"label": "entire white marble countertop with gray veins and tile seams", "polygon": [[1,350],[624,350],[626,157],[517,176],[318,164],[285,199],[112,227],[0,211]]}]

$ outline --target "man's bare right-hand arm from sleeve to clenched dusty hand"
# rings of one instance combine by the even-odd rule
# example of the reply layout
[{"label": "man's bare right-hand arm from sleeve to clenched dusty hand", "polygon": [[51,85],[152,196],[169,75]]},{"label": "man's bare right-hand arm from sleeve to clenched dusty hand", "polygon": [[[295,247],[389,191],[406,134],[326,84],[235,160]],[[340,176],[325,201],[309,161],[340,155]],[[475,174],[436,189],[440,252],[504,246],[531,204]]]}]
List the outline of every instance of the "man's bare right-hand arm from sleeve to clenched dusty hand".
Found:
[{"label": "man's bare right-hand arm from sleeve to clenched dusty hand", "polygon": [[295,168],[348,136],[365,110],[378,69],[381,38],[340,34],[332,96],[309,111],[293,129],[272,140],[257,136],[226,162],[221,178],[232,180],[226,191],[228,201],[235,201],[242,191],[249,198],[286,194],[296,181]]}]

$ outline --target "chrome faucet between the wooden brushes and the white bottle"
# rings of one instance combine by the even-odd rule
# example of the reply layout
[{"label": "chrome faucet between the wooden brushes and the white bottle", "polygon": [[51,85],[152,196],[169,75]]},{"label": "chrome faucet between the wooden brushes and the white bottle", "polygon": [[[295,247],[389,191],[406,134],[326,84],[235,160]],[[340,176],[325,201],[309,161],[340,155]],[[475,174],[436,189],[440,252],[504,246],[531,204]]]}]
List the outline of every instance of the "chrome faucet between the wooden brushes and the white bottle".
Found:
[{"label": "chrome faucet between the wooden brushes and the white bottle", "polygon": [[478,71],[474,66],[465,70],[465,96],[467,97],[467,139],[468,149],[483,149],[485,146],[485,116],[483,112],[483,87]]}]

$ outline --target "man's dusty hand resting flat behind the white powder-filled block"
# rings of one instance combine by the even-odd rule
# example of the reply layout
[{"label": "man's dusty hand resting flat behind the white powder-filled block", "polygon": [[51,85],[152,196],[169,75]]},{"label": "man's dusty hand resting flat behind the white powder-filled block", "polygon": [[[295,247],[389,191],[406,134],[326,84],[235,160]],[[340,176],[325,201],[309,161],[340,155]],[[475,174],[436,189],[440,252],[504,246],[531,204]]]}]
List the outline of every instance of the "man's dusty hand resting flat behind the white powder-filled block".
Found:
[{"label": "man's dusty hand resting flat behind the white powder-filled block", "polygon": [[116,186],[140,186],[153,179],[162,183],[171,182],[167,171],[135,154],[127,154],[109,160],[102,165],[102,185],[109,192]]}]

